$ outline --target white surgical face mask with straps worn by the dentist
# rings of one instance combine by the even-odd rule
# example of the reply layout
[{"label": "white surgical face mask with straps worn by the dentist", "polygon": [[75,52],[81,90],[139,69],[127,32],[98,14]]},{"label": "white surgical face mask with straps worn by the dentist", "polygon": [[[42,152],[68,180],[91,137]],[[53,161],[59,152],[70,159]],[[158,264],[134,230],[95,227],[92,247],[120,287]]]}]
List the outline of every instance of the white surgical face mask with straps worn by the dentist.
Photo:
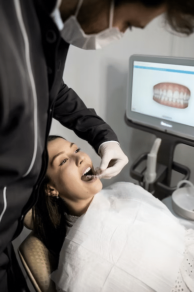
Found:
[{"label": "white surgical face mask with straps worn by the dentist", "polygon": [[112,27],[114,14],[114,1],[111,2],[109,28],[97,34],[87,35],[77,21],[77,15],[83,0],[79,0],[75,15],[70,16],[64,23],[61,31],[62,38],[69,44],[85,50],[96,50],[107,46],[109,43],[122,38],[123,33],[117,27]]}]

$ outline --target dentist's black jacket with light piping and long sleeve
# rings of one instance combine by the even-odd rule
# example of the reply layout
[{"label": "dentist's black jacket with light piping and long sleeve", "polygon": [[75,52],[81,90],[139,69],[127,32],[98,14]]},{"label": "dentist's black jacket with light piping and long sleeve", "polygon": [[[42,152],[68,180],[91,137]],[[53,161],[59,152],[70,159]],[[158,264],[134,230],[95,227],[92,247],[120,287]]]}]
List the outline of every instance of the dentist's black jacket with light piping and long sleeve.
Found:
[{"label": "dentist's black jacket with light piping and long sleeve", "polygon": [[96,151],[117,140],[62,80],[69,45],[50,18],[54,6],[55,0],[0,1],[0,266],[36,203],[52,117]]}]

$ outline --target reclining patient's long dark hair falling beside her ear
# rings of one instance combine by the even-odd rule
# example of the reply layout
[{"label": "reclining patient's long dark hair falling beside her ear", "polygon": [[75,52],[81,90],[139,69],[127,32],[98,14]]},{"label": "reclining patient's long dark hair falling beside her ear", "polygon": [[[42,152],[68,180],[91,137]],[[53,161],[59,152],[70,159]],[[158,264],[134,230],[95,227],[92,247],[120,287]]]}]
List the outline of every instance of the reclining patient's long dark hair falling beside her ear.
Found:
[{"label": "reclining patient's long dark hair falling beside her ear", "polygon": [[[57,138],[63,137],[49,136],[48,143]],[[66,236],[68,226],[66,214],[69,213],[69,210],[60,197],[48,196],[46,193],[45,190],[50,181],[50,178],[45,176],[41,182],[38,201],[33,207],[33,222],[38,237],[55,256],[59,256]]]}]

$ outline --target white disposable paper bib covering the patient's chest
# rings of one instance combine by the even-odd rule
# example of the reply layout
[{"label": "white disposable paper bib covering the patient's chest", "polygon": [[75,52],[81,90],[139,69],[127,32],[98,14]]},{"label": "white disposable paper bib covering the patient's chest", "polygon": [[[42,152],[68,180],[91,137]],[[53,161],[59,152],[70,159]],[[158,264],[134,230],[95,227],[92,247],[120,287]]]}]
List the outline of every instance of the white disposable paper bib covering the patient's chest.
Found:
[{"label": "white disposable paper bib covering the patient's chest", "polygon": [[167,292],[183,259],[184,235],[149,192],[115,183],[73,225],[51,278],[68,292]]}]

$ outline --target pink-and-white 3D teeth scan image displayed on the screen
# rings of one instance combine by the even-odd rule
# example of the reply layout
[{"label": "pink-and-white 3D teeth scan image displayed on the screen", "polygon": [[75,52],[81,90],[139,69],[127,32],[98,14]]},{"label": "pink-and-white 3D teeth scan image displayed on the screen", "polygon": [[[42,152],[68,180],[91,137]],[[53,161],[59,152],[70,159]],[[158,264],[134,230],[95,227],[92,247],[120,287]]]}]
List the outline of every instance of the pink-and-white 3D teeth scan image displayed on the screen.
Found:
[{"label": "pink-and-white 3D teeth scan image displayed on the screen", "polygon": [[161,105],[185,109],[188,107],[190,90],[188,87],[170,82],[161,82],[153,86],[153,100]]}]

